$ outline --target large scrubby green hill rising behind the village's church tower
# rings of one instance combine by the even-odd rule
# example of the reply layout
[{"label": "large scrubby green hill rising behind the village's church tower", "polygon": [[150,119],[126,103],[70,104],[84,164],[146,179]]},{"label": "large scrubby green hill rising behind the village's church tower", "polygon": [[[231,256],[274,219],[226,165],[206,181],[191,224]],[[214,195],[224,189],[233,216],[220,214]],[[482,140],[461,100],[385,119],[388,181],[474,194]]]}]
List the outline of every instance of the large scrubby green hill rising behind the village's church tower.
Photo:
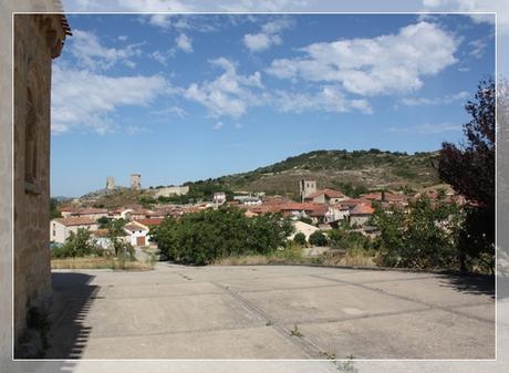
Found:
[{"label": "large scrubby green hill rising behind the village's church tower", "polygon": [[[211,179],[230,190],[297,195],[298,180],[312,178],[320,188],[402,189],[414,190],[439,183],[434,164],[438,153],[371,151],[316,151],[289,157],[273,165],[248,173]],[[189,186],[196,183],[188,183]],[[346,190],[344,190],[346,193]]]}]

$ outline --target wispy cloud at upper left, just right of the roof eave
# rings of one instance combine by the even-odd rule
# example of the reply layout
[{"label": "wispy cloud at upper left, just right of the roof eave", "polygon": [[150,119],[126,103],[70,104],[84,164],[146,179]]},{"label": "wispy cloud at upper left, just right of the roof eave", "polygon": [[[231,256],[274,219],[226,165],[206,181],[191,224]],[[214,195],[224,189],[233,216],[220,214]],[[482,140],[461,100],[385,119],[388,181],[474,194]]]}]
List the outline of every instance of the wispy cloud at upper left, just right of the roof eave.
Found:
[{"label": "wispy cloud at upper left, just right of the roof eave", "polygon": [[129,44],[123,49],[104,46],[97,35],[90,31],[73,30],[66,50],[76,59],[80,66],[89,70],[107,70],[116,63],[128,68],[136,64],[131,60],[142,54],[141,44]]}]

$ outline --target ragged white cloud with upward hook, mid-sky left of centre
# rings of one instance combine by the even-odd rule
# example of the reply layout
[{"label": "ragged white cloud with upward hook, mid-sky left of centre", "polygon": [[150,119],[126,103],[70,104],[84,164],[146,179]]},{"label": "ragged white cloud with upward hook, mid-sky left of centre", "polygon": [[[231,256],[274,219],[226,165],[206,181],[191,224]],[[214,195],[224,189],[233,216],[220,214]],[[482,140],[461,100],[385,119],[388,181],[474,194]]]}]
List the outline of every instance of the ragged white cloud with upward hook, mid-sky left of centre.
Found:
[{"label": "ragged white cloud with upward hook, mid-sky left of centre", "polygon": [[239,118],[249,106],[261,104],[254,90],[262,89],[259,72],[240,75],[232,62],[225,58],[211,60],[210,63],[224,70],[214,81],[193,83],[184,91],[184,96],[206,106],[212,116],[231,116]]}]

